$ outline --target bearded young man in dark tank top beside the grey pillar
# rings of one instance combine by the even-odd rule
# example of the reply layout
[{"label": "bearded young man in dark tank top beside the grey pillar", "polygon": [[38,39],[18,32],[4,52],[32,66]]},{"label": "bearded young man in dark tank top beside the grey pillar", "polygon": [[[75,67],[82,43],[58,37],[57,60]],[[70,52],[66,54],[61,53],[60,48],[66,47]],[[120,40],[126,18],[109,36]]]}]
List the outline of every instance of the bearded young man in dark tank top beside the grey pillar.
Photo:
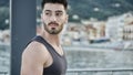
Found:
[{"label": "bearded young man in dark tank top beside the grey pillar", "polygon": [[66,61],[60,32],[68,22],[66,0],[43,0],[43,31],[22,53],[21,75],[65,75]]}]

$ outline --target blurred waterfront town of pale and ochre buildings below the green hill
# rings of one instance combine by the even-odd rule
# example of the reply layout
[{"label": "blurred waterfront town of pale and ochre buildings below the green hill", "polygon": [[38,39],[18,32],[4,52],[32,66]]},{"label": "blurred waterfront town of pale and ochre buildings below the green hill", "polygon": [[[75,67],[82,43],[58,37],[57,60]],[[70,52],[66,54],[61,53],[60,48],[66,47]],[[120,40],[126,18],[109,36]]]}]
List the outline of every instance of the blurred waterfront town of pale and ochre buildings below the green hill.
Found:
[{"label": "blurred waterfront town of pale and ochre buildings below the green hill", "polygon": [[[37,21],[38,22],[38,21]],[[41,32],[37,25],[37,34]],[[10,29],[0,31],[0,43],[10,43]],[[69,22],[62,32],[62,45],[91,45],[99,43],[132,42],[133,13],[110,17],[106,21],[96,19]],[[133,46],[133,45],[131,45]]]}]

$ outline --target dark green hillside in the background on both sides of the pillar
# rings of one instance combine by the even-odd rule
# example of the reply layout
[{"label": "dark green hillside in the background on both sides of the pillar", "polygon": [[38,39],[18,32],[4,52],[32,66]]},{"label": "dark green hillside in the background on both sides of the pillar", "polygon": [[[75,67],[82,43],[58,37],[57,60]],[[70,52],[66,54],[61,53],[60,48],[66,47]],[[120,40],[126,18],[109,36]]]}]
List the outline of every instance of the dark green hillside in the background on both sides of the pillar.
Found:
[{"label": "dark green hillside in the background on both sides of the pillar", "polygon": [[[133,0],[68,0],[69,1],[69,20],[80,22],[95,18],[106,20],[111,15],[119,15],[125,12],[133,12]],[[40,7],[41,0],[37,0]],[[40,18],[41,10],[38,10],[37,17]],[[9,19],[9,0],[0,0],[0,29],[8,29],[4,20]]]}]

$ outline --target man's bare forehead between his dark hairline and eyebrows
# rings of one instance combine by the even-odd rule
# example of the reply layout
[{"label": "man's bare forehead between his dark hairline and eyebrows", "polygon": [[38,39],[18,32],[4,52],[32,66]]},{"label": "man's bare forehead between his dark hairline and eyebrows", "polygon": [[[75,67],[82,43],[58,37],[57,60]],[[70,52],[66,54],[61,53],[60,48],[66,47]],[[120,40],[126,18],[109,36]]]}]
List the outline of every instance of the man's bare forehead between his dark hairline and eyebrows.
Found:
[{"label": "man's bare forehead between his dark hairline and eyebrows", "polygon": [[43,10],[50,10],[50,11],[64,11],[63,4],[60,3],[45,3]]}]

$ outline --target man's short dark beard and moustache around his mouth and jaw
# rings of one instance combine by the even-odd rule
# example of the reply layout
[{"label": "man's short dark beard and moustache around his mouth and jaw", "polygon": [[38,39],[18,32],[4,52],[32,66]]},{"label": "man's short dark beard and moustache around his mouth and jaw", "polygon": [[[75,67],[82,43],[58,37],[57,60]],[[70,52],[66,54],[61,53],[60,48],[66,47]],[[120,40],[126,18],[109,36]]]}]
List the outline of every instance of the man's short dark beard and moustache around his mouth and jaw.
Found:
[{"label": "man's short dark beard and moustache around his mouth and jaw", "polygon": [[[49,28],[50,24],[55,24],[57,26],[55,28]],[[59,25],[55,22],[51,22],[51,23],[48,23],[48,24],[45,24],[43,22],[43,25],[44,25],[44,30],[50,34],[59,34],[63,29],[63,24]]]}]

